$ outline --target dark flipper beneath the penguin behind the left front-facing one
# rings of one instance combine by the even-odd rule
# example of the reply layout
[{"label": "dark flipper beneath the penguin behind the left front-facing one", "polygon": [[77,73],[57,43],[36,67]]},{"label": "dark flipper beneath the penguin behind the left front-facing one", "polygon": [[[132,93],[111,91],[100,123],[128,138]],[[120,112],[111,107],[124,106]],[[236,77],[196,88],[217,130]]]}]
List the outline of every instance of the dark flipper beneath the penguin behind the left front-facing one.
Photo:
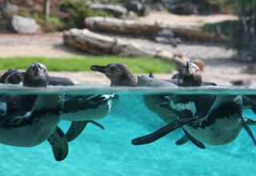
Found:
[{"label": "dark flipper beneath the penguin behind the left front-facing one", "polygon": [[104,126],[99,124],[98,122],[95,122],[93,120],[88,121],[78,121],[78,122],[71,122],[69,130],[66,132],[66,139],[68,142],[73,141],[75,138],[78,138],[78,135],[82,133],[82,130],[86,128],[86,125],[91,122],[95,126],[98,126],[102,130],[104,130]]}]

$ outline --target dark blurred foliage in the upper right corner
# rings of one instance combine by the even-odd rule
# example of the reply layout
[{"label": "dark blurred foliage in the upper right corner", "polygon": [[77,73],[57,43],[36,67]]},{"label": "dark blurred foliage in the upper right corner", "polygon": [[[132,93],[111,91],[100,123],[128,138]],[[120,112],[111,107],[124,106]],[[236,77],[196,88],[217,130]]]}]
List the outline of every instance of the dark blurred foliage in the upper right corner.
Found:
[{"label": "dark blurred foliage in the upper right corner", "polygon": [[[233,13],[239,17],[238,21],[231,22],[232,24],[229,24],[229,22],[222,23],[221,29],[223,30],[221,32],[226,35],[226,46],[238,50],[238,58],[246,61],[256,61],[256,0],[211,1],[229,4]],[[211,27],[211,30],[213,28]],[[207,29],[210,29],[209,26],[205,26],[205,30]]]}]

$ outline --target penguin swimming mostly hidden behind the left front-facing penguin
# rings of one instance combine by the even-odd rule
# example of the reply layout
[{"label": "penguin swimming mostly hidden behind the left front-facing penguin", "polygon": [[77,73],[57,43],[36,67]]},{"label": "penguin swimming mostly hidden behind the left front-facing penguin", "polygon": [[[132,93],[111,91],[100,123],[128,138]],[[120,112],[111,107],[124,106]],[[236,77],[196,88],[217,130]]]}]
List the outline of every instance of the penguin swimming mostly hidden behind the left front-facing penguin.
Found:
[{"label": "penguin swimming mostly hidden behind the left front-facing penguin", "polygon": [[[2,83],[18,84],[22,82],[25,72],[20,70],[8,70],[2,75]],[[74,86],[77,82],[70,78],[49,77],[50,86]],[[70,95],[63,98],[62,119],[71,121],[70,128],[66,132],[68,142],[77,138],[88,123],[92,123],[102,129],[104,127],[94,119],[104,118],[118,102],[117,94],[94,95]]]}]

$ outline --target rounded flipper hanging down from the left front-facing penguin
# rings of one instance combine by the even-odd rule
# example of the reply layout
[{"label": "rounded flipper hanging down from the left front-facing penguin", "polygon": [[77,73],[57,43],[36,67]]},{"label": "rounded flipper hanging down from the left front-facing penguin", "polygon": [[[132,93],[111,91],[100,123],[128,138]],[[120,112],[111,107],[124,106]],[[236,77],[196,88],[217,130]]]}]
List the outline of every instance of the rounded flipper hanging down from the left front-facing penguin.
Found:
[{"label": "rounded flipper hanging down from the left front-facing penguin", "polygon": [[54,133],[47,139],[54,152],[54,158],[60,162],[64,160],[69,153],[69,146],[63,131],[56,126]]}]

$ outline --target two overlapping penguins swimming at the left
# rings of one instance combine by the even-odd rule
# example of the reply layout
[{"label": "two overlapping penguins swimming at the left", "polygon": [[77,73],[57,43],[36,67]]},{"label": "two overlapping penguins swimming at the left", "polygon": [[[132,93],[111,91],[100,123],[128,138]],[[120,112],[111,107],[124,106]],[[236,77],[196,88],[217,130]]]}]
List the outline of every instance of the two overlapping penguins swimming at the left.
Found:
[{"label": "two overlapping penguins swimming at the left", "polygon": [[[69,78],[50,77],[46,66],[33,63],[26,72],[7,70],[0,78],[2,87],[43,88],[74,85]],[[54,158],[62,161],[68,154],[68,142],[77,138],[94,119],[104,118],[117,104],[118,94],[0,94],[0,142],[9,146],[37,146],[48,140]],[[58,127],[61,120],[71,121],[66,134]]]}]

